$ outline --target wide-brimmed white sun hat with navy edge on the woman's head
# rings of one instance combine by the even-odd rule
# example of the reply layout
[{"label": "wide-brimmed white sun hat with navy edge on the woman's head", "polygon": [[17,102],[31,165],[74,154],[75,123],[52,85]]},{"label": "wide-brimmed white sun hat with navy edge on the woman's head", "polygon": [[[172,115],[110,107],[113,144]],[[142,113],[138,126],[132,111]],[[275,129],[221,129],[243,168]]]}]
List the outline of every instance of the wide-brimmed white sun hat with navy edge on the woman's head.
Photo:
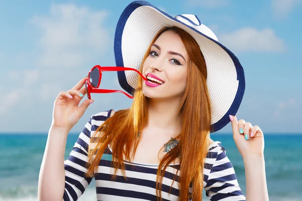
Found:
[{"label": "wide-brimmed white sun hat with navy edge on the woman's head", "polygon": [[[236,115],[245,91],[245,76],[238,58],[218,42],[215,34],[201,24],[196,15],[184,14],[174,18],[148,2],[130,3],[115,30],[116,66],[139,70],[149,44],[157,32],[167,26],[188,32],[204,56],[212,111],[210,133],[214,133],[230,122],[229,115]],[[117,74],[121,87],[133,95],[139,75],[134,71],[118,71]]]}]

